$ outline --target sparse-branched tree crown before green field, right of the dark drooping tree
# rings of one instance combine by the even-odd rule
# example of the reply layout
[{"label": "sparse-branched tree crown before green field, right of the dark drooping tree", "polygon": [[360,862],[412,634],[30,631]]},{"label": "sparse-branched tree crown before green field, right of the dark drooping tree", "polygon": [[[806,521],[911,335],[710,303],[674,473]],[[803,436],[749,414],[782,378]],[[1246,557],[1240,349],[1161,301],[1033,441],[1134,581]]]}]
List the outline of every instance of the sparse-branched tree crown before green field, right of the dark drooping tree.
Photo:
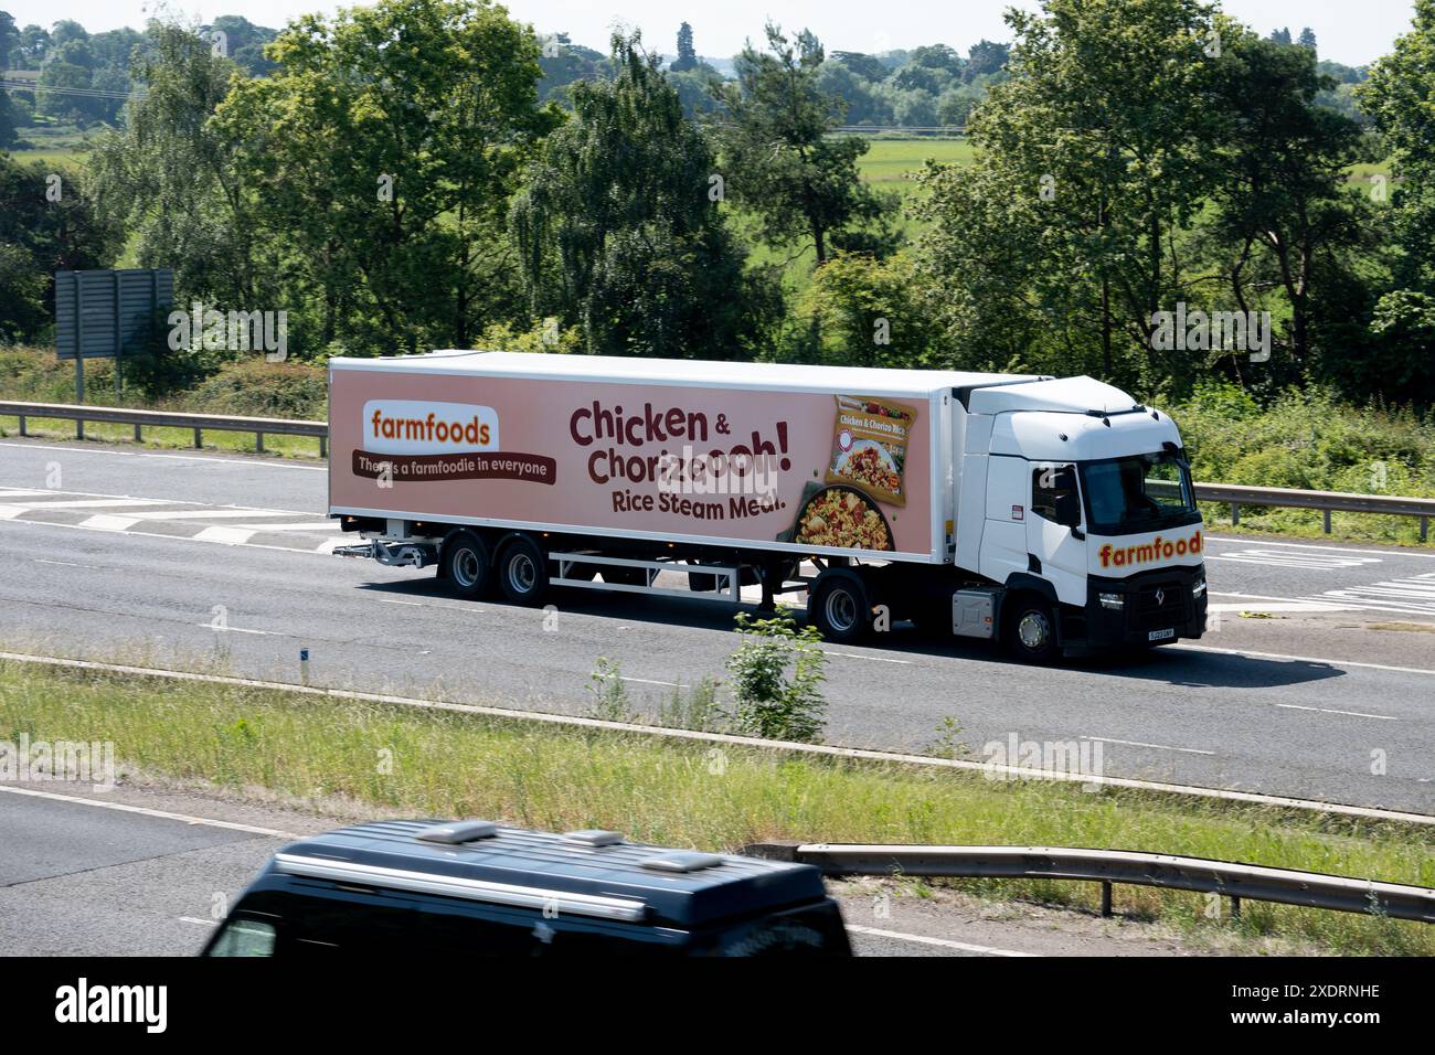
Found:
[{"label": "sparse-branched tree crown before green field, right of the dark drooping tree", "polygon": [[828,135],[842,105],[818,86],[821,42],[808,30],[789,42],[772,23],[766,36],[768,52],[743,47],[738,83],[723,92],[728,192],[761,217],[763,241],[806,241],[822,264],[832,248],[861,241],[857,228],[880,224],[893,207],[858,177],[867,141]]}]

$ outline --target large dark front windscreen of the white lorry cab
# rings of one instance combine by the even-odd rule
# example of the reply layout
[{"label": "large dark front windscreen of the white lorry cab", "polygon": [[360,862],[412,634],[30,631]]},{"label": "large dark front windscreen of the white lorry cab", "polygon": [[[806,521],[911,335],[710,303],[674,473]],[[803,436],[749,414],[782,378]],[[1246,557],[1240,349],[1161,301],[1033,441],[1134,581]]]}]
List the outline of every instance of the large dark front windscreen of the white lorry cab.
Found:
[{"label": "large dark front windscreen of the white lorry cab", "polygon": [[1191,472],[1174,454],[1085,462],[1081,477],[1088,530],[1096,534],[1129,535],[1200,521]]}]

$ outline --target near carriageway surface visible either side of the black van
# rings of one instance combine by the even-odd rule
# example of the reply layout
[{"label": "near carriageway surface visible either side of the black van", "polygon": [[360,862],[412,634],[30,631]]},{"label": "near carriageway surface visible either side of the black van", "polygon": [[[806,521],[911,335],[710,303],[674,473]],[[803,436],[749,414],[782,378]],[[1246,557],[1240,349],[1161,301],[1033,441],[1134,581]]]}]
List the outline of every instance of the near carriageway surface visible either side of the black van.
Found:
[{"label": "near carriageway surface visible either side of the black van", "polygon": [[[194,956],[270,854],[363,820],[192,792],[0,785],[0,956]],[[34,791],[37,794],[24,794]],[[890,884],[831,887],[862,956],[1170,956],[1210,952],[1138,922]]]}]

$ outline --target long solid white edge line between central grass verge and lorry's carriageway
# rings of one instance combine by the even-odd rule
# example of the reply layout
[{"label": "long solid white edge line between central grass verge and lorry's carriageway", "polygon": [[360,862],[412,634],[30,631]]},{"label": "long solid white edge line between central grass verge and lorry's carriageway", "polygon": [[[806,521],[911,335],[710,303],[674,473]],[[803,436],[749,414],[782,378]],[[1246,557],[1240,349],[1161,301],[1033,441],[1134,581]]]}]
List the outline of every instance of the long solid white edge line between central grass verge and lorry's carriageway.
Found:
[{"label": "long solid white edge line between central grass verge and lorry's carriageway", "polygon": [[[762,751],[785,751],[792,755],[821,755],[825,758],[861,758],[874,762],[898,762],[903,765],[921,765],[934,769],[963,769],[966,772],[980,772],[983,775],[999,772],[1013,777],[1027,777],[1032,779],[1053,781],[1059,784],[1098,784],[1109,788],[1132,788],[1137,791],[1159,791],[1172,795],[1192,795],[1198,798],[1214,798],[1224,802],[1254,802],[1258,805],[1286,807],[1290,810],[1309,810],[1312,812],[1336,814],[1340,817],[1365,817],[1383,821],[1403,821],[1406,824],[1435,825],[1435,815],[1418,814],[1403,810],[1385,810],[1382,807],[1347,805],[1345,802],[1322,802],[1313,798],[1292,798],[1289,795],[1267,795],[1258,791],[1233,791],[1227,788],[1201,788],[1194,784],[1161,784],[1158,781],[1142,781],[1132,777],[1093,777],[1091,774],[1059,772],[1052,769],[1027,769],[1019,765],[992,765],[992,762],[977,762],[961,758],[934,758],[931,755],[907,755],[898,751],[872,751],[870,748],[842,748],[832,744],[798,744],[794,741],[769,741],[759,736],[739,736],[728,732],[702,732],[697,729],[670,729],[659,725],[639,725],[636,722],[610,722],[601,718],[583,718],[578,715],[555,715],[548,711],[521,711],[518,708],[494,708],[481,703],[448,703],[443,700],[418,699],[415,696],[393,696],[379,692],[357,692],[354,689],[329,689],[310,685],[296,685],[293,682],[265,682],[255,677],[234,677],[231,675],[201,675],[189,670],[165,670],[162,667],[126,666],[123,663],[100,663],[89,659],[69,659],[67,656],[42,656],[27,652],[0,652],[0,660],[13,663],[34,663],[37,666],[62,666],[75,670],[106,670],[119,675],[139,675],[142,677],[164,677],[175,682],[205,682],[210,685],[240,685],[251,689],[274,689],[303,696],[323,696],[326,699],[357,699],[373,703],[396,703],[419,711],[451,711],[455,713],[485,715],[505,721],[535,722],[542,725],[573,726],[583,729],[611,729],[614,732],[641,733],[660,739],[699,741],[703,744],[728,744]],[[1419,673],[1435,673],[1422,670]],[[0,791],[6,788],[0,785]]]}]

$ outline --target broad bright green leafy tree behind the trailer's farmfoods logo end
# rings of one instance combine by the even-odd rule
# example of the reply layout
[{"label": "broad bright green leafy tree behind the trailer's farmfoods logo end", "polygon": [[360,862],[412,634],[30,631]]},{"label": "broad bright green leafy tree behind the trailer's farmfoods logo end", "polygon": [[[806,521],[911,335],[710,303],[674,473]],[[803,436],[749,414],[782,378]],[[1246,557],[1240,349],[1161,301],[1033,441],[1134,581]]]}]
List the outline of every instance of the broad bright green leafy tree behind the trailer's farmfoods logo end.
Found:
[{"label": "broad bright green leafy tree behind the trailer's farmfoods logo end", "polygon": [[507,207],[558,121],[532,30],[486,1],[380,0],[303,16],[267,55],[276,72],[235,80],[212,126],[287,245],[311,344],[466,347],[517,310]]}]

